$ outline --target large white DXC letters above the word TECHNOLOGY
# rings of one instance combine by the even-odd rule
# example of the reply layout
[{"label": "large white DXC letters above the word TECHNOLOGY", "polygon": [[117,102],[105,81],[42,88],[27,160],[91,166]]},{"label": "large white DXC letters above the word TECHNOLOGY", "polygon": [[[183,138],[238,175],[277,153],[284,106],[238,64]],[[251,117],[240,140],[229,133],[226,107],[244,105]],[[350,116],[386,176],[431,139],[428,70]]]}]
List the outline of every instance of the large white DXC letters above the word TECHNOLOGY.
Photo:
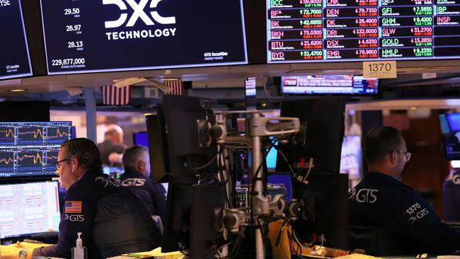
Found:
[{"label": "large white DXC letters above the word TECHNOLOGY", "polygon": [[[151,18],[154,18],[154,21],[151,21],[151,18],[144,12],[145,6],[149,3],[149,0],[140,0],[139,4],[136,3],[134,0],[125,0],[127,4],[132,8],[134,13],[132,13],[132,16],[130,20],[126,23],[126,27],[132,27],[136,23],[137,19],[141,19],[144,21],[146,25],[154,25],[154,21],[157,23],[161,24],[171,24],[171,23],[176,23],[176,17],[171,16],[171,17],[163,17],[160,16],[157,11],[151,11],[150,15]],[[156,8],[158,6],[159,2],[161,0],[151,0],[150,2],[150,8]],[[127,10],[127,6],[123,0],[102,0],[102,4],[115,4],[118,8],[120,8],[120,11]],[[128,18],[127,13],[122,13],[120,14],[120,18],[118,18],[116,21],[106,21],[105,22],[105,28],[117,28],[120,27],[121,25],[125,24],[126,20]]]}]

